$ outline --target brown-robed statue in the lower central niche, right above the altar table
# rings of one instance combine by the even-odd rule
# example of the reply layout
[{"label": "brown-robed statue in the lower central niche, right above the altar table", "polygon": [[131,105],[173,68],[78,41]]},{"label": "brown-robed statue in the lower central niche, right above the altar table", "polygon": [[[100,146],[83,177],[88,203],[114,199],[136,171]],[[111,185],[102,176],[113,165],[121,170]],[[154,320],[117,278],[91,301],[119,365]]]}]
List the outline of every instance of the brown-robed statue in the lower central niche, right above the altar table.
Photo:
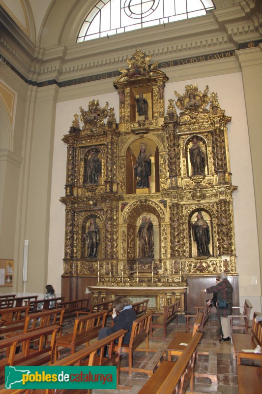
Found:
[{"label": "brown-robed statue in the lower central niche, right above the altar table", "polygon": [[149,263],[154,258],[153,223],[150,215],[143,216],[137,232],[139,263]]}]

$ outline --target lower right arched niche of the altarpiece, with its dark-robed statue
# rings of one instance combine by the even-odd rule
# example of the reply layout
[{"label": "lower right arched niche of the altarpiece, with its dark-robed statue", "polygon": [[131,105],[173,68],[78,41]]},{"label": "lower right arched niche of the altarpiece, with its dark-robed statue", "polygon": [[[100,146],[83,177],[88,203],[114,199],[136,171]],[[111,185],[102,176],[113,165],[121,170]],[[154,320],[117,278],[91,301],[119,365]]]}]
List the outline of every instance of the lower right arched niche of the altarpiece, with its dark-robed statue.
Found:
[{"label": "lower right arched niche of the altarpiece, with its dark-robed statue", "polygon": [[[188,230],[190,257],[208,258],[214,256],[214,226],[212,213],[203,207],[192,210],[188,216]],[[205,253],[206,248],[209,253]]]}]

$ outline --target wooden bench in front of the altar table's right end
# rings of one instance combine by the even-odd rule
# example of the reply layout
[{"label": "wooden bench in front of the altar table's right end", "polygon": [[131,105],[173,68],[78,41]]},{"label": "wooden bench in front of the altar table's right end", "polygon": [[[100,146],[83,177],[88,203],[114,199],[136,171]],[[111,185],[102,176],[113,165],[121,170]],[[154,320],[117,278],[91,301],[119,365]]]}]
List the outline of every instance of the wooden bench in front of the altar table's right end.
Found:
[{"label": "wooden bench in front of the altar table's right end", "polygon": [[[157,315],[158,317],[155,320],[151,321],[150,327],[150,339],[163,339],[166,341],[167,339],[167,326],[176,319],[177,324],[177,316],[178,310],[180,306],[180,300],[175,301],[173,304],[164,307],[164,314]],[[154,337],[153,336],[153,328],[162,328],[163,329],[163,336],[162,337]]]}]

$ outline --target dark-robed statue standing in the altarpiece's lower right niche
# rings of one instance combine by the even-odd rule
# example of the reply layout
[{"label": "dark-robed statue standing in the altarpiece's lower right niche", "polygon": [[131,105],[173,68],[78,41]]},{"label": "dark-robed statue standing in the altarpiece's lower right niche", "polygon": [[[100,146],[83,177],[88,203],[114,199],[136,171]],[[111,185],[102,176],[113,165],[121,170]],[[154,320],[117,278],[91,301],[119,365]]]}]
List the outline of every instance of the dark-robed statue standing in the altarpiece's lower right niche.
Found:
[{"label": "dark-robed statue standing in the altarpiece's lower right niche", "polygon": [[210,231],[207,222],[204,220],[202,212],[197,214],[197,220],[191,223],[193,240],[197,244],[198,257],[211,256],[209,252]]}]

